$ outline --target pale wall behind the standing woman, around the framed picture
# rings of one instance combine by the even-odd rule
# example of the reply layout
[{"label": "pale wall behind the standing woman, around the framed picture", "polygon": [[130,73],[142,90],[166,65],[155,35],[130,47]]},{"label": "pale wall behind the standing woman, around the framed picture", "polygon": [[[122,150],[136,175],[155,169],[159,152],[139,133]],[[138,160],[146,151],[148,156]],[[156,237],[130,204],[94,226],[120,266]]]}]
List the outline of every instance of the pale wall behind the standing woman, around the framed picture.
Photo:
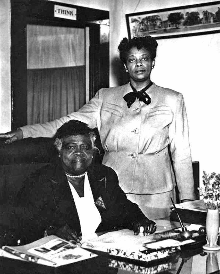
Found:
[{"label": "pale wall behind the standing woman, around the framed picture", "polygon": [[[117,47],[127,37],[125,14],[208,2],[205,0],[114,0],[110,6],[110,62],[119,63]],[[138,6],[137,6],[138,4]],[[137,6],[137,7],[136,7]],[[116,13],[117,10],[117,13]],[[219,62],[220,34],[158,40],[152,81],[184,95],[192,160],[202,171],[220,173],[219,155]],[[122,75],[122,79],[124,76]],[[110,85],[120,84],[114,66]]]}]

